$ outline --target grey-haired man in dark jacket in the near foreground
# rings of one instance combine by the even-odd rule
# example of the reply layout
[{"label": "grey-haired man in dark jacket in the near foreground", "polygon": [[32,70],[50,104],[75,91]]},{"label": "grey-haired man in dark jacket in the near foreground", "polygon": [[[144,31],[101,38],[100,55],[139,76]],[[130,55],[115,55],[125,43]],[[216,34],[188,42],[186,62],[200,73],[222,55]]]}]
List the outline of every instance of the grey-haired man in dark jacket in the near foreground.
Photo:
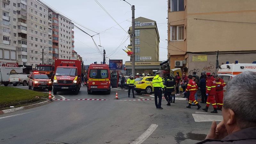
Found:
[{"label": "grey-haired man in dark jacket in the near foreground", "polygon": [[255,72],[245,71],[233,77],[224,97],[223,121],[218,125],[213,121],[206,140],[197,144],[255,144],[255,89]]}]

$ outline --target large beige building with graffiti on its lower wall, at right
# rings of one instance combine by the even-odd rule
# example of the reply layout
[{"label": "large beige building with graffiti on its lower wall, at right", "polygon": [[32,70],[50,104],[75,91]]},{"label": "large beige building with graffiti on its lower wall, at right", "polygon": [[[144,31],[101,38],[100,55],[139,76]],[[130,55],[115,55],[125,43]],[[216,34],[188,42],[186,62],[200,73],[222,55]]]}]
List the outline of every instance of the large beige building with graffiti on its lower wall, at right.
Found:
[{"label": "large beige building with graffiti on its lower wall, at right", "polygon": [[256,60],[255,0],[168,0],[168,59],[188,74]]}]

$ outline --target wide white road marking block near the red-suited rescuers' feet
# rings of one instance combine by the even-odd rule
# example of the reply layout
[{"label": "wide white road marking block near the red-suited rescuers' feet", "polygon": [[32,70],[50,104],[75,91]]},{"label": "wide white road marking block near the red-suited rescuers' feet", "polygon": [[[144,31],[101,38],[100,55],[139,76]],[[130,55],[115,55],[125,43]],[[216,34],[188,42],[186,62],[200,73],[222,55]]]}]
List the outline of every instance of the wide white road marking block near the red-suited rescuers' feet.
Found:
[{"label": "wide white road marking block near the red-suited rescuers' feet", "polygon": [[222,116],[216,115],[203,115],[203,114],[192,114],[195,122],[212,122],[212,121],[222,121]]}]

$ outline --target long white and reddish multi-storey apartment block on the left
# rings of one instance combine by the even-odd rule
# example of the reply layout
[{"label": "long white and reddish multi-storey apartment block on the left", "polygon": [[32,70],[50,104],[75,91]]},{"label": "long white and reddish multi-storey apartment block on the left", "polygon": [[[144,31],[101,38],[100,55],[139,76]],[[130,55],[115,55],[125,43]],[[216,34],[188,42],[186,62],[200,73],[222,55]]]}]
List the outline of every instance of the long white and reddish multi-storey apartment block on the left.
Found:
[{"label": "long white and reddish multi-storey apartment block on the left", "polygon": [[[0,62],[29,69],[54,59],[72,59],[74,24],[35,0],[1,3]],[[44,58],[43,58],[44,57]]]}]

